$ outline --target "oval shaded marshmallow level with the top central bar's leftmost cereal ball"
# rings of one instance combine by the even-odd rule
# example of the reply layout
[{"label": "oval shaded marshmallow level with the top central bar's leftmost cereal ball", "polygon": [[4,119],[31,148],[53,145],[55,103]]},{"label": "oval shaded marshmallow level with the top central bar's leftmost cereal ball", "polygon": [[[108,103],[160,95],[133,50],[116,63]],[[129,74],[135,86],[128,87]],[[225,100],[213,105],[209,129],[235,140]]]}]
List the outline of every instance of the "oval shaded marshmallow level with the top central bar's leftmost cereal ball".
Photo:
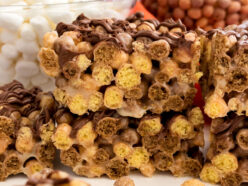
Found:
[{"label": "oval shaded marshmallow level with the top central bar's leftmost cereal ball", "polygon": [[39,73],[39,67],[36,63],[32,61],[19,60],[15,66],[16,74],[21,77],[33,77],[34,75]]}]

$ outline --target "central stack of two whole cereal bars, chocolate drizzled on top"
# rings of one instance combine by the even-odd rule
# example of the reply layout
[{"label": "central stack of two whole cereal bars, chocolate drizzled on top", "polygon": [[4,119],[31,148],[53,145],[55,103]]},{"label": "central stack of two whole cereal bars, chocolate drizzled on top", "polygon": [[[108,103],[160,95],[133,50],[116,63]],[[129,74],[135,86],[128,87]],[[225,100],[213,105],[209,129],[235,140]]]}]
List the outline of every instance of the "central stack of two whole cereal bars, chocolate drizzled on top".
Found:
[{"label": "central stack of two whole cereal bars, chocolate drizzled on top", "polygon": [[201,44],[181,22],[137,13],[127,20],[60,23],[39,53],[56,79],[52,136],[63,164],[78,175],[112,179],[138,169],[198,176],[203,116],[192,108]]}]

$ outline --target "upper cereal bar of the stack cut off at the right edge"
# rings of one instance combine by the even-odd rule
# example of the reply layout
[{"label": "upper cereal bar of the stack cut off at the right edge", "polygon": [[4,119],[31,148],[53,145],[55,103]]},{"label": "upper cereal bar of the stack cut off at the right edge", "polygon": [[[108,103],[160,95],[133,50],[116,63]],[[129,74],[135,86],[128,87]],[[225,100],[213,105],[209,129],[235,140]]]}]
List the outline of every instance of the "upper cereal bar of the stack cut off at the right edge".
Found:
[{"label": "upper cereal bar of the stack cut off at the right edge", "polygon": [[202,88],[205,113],[212,119],[231,111],[248,116],[247,28],[245,22],[205,33]]}]

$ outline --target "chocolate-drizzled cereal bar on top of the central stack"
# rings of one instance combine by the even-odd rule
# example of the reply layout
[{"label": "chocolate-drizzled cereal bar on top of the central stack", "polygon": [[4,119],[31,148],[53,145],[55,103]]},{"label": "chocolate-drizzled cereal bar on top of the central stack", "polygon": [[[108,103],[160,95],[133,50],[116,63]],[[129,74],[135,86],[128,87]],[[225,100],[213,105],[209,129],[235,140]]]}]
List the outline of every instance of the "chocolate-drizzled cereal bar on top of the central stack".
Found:
[{"label": "chocolate-drizzled cereal bar on top of the central stack", "polygon": [[73,114],[107,108],[142,118],[192,104],[201,43],[180,21],[81,14],[73,24],[58,24],[57,33],[45,35],[40,66],[56,79],[55,99]]}]

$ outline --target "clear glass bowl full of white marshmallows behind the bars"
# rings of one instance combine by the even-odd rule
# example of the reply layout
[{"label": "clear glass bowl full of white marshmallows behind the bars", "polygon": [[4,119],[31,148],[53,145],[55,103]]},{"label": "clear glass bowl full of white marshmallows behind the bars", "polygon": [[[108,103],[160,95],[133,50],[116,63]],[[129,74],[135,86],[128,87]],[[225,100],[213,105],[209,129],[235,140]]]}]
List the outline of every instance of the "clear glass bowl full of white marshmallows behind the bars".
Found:
[{"label": "clear glass bowl full of white marshmallows behind the bars", "polygon": [[17,79],[26,87],[52,89],[54,82],[40,71],[37,58],[44,34],[59,22],[71,23],[81,13],[89,18],[124,19],[135,2],[0,0],[0,85]]}]

